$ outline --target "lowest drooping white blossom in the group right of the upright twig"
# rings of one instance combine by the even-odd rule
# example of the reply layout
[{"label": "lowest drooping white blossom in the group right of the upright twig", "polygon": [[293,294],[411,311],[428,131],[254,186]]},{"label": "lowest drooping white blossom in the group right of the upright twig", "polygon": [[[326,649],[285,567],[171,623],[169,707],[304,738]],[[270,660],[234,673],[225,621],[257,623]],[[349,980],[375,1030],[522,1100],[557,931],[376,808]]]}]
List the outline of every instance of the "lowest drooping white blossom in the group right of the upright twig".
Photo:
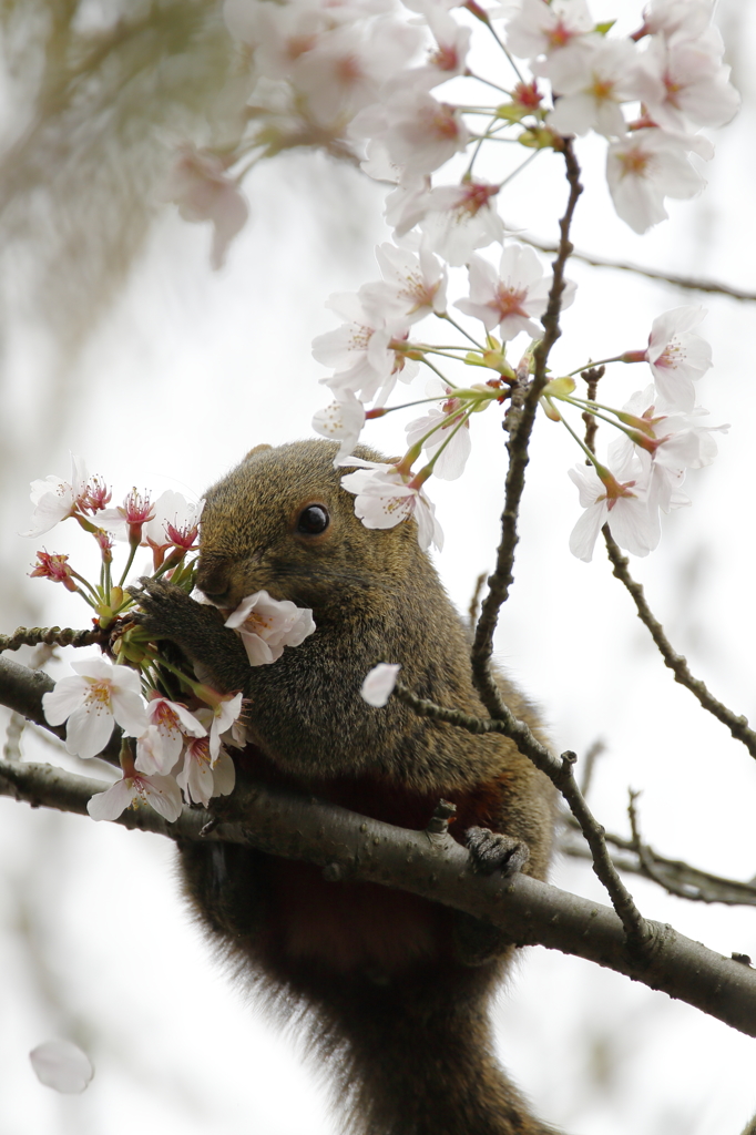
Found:
[{"label": "lowest drooping white blossom in the group right of the upright twig", "polygon": [[600,466],[578,465],[569,470],[570,479],[578,486],[580,504],[586,510],[572,529],[570,550],[578,560],[588,563],[594,555],[596,538],[606,523],[622,548],[636,556],[646,556],[660,541],[658,508],[649,507],[648,477],[644,479],[640,464],[620,473],[633,472],[628,480],[618,480]]}]

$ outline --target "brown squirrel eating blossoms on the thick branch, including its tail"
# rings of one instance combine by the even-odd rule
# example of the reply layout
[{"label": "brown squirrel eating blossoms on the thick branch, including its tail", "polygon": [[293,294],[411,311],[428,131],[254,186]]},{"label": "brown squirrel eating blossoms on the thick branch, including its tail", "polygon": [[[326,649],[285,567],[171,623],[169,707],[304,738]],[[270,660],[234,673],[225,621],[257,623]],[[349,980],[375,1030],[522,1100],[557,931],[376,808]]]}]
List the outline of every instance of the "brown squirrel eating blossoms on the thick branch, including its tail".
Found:
[{"label": "brown squirrel eating blossoms on the thick branch, including its tail", "polygon": [[[415,523],[371,530],[325,440],[258,446],[207,494],[200,604],[143,580],[140,623],[217,687],[242,690],[252,742],[237,767],[403,827],[440,798],[451,834],[482,869],[545,876],[555,823],[548,780],[501,734],[473,735],[360,686],[401,663],[420,697],[485,716],[470,633]],[[356,455],[385,460],[363,446]],[[254,591],[311,607],[316,632],[250,666],[222,612]],[[218,609],[220,608],[220,609]],[[502,693],[537,737],[532,707]],[[493,1054],[487,1002],[514,948],[490,924],[372,883],[328,882],[306,863],[220,842],[179,844],[185,889],[210,936],[282,1020],[306,1019],[348,1130],[363,1135],[551,1135]]]}]

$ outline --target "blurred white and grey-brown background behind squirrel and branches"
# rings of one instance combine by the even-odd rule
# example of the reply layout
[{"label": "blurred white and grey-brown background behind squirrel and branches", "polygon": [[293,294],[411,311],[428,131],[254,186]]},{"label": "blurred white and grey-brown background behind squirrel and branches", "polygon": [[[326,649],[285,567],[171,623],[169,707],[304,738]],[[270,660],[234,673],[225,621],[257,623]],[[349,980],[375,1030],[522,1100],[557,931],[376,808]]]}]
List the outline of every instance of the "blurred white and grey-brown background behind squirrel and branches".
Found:
[{"label": "blurred white and grey-brown background behind squirrel and branches", "polygon": [[[623,5],[629,31],[640,7]],[[581,140],[579,250],[756,289],[755,7],[719,6],[744,108],[713,134],[707,192],[667,202],[670,221],[636,236],[612,209],[603,144]],[[615,15],[608,2],[591,10]],[[0,630],[82,627],[76,596],[27,577],[36,544],[16,533],[28,524],[28,482],[67,478],[73,451],[116,498],[132,486],[200,496],[252,445],[311,436],[329,400],[310,343],[335,326],[327,296],[378,275],[384,190],[321,152],[280,153],[247,177],[250,221],[213,272],[209,226],[180,220],[165,184],[176,144],[207,143],[238,102],[218,7],[6,0],[0,20]],[[564,201],[560,159],[544,153],[501,208],[507,224],[553,241]],[[699,400],[732,429],[716,463],[689,473],[692,507],[666,519],[660,548],[632,571],[694,672],[753,716],[756,309],[577,261],[570,276],[579,291],[556,370],[644,347],[663,311],[708,309],[714,368]],[[618,370],[603,389],[615,404],[645,385]],[[366,440],[396,451],[403,424],[370,423]],[[600,549],[591,564],[570,555],[579,507],[563,434],[538,422],[498,661],[543,706],[558,748],[583,756],[603,741],[590,804],[610,831],[629,834],[628,788],[641,790],[642,834],[660,852],[751,878],[754,762],[675,686]],[[462,609],[493,565],[505,473],[495,415],[479,415],[473,435],[465,476],[432,487],[446,532],[437,564]],[[95,570],[78,531],[39,543]],[[66,672],[66,654],[52,673]],[[28,759],[66,764],[32,730],[20,745]],[[125,1135],[135,1123],[142,1135],[335,1135],[297,1037],[230,986],[192,925],[167,840],[0,799],[0,1135]],[[558,861],[553,881],[604,901],[576,859]],[[645,915],[724,955],[756,956],[753,908],[629,884]],[[738,1135],[756,1111],[750,1039],[578,959],[523,952],[496,1026],[538,1113],[574,1135]],[[95,1065],[81,1096],[57,1095],[31,1070],[30,1049],[56,1035]]]}]

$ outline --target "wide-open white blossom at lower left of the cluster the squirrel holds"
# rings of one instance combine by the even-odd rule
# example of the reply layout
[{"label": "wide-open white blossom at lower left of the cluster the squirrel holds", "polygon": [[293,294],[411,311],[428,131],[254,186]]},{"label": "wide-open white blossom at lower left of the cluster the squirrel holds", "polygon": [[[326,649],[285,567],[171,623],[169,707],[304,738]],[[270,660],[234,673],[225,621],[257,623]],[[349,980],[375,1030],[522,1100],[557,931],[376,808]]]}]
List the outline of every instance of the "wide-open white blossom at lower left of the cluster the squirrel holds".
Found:
[{"label": "wide-open white blossom at lower left of the cluster the squirrel holds", "polygon": [[138,674],[128,666],[114,666],[106,658],[72,662],[73,678],[62,678],[42,697],[51,725],[66,726],[66,748],[79,757],[94,757],[108,743],[116,722],[126,737],[140,737],[148,728]]}]

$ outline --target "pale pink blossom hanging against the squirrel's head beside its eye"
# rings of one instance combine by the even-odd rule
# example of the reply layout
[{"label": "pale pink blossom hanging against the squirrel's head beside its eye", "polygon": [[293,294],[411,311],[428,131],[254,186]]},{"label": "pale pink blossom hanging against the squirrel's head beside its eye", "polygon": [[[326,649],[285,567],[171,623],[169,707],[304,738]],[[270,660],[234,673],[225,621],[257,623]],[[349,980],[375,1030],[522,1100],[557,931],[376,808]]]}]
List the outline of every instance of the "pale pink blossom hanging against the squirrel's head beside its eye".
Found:
[{"label": "pale pink blossom hanging against the squirrel's head beside its eye", "polygon": [[435,545],[444,546],[444,533],[436,520],[435,505],[395,465],[361,457],[345,457],[342,465],[359,465],[354,473],[342,477],[342,486],[355,494],[354,513],[366,528],[395,528],[403,520],[413,518],[418,526],[418,543],[425,550]]}]

